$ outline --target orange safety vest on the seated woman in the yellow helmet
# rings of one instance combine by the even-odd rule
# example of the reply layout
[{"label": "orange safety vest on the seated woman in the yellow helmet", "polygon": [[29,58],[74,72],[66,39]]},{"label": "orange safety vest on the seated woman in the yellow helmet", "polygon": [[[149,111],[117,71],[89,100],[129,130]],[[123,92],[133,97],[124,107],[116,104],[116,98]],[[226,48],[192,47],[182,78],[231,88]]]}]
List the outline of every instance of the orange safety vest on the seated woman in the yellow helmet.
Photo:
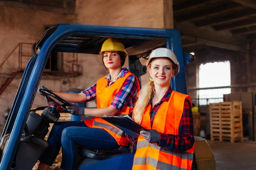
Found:
[{"label": "orange safety vest on the seated woman in the yellow helmet", "polygon": [[[124,84],[126,78],[129,75],[133,75],[128,71],[124,77],[119,77],[115,83],[110,86],[106,86],[107,80],[106,76],[101,77],[97,81],[96,86],[96,99],[97,99],[97,108],[104,108],[111,105],[112,100],[114,99],[117,92],[120,90],[121,86]],[[136,76],[135,76],[136,77]],[[139,82],[136,77],[137,84],[137,92],[139,91]],[[121,101],[120,101],[121,102]],[[132,111],[132,107],[124,106],[122,111],[120,111],[119,115],[130,115]],[[102,128],[105,129],[112,137],[114,137],[119,145],[128,146],[128,141],[126,139],[125,133],[117,128],[116,126],[108,123],[107,121],[101,119],[100,117],[94,117],[92,119],[88,119],[84,121],[85,124],[89,127],[93,128]]]}]

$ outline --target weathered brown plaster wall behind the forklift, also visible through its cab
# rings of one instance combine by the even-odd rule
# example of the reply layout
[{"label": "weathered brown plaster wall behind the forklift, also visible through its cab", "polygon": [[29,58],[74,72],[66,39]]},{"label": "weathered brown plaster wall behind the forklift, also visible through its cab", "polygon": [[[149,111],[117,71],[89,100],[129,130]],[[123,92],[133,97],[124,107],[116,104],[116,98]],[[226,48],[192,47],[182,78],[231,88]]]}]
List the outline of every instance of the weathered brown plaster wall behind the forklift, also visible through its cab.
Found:
[{"label": "weathered brown plaster wall behind the forklift, also visible through its cab", "polygon": [[[0,63],[20,43],[33,44],[45,32],[45,28],[55,24],[97,24],[112,26],[135,26],[151,28],[173,28],[172,0],[0,0]],[[75,2],[75,5],[72,4]],[[31,45],[26,53],[32,56]],[[68,54],[64,54],[68,55]],[[85,89],[97,79],[107,74],[102,66],[100,55],[78,54],[81,75],[78,77],[57,77],[49,79],[43,76],[40,85],[54,91],[67,91],[71,88]],[[29,60],[23,60],[23,66]],[[142,61],[146,63],[146,61]],[[68,67],[64,59],[64,67]],[[124,65],[128,67],[128,63]],[[88,69],[90,67],[90,69]],[[18,51],[9,57],[0,68],[0,82],[10,71],[18,68]],[[93,71],[92,71],[93,70]],[[11,84],[0,95],[0,117],[11,107],[22,75],[16,76]],[[147,75],[142,77],[148,81]],[[45,99],[36,94],[32,107],[46,106]],[[94,105],[92,103],[91,105]],[[4,119],[0,119],[0,125]]]}]

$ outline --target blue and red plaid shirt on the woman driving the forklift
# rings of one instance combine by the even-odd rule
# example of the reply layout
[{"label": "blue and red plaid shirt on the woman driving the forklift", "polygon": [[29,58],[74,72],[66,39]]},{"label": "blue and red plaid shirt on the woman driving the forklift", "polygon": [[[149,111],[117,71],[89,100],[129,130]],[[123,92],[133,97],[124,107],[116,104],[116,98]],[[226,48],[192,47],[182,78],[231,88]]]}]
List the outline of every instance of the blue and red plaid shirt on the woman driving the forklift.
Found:
[{"label": "blue and red plaid shirt on the woman driving the forklift", "polygon": [[[111,76],[110,74],[108,74],[105,78],[108,81],[106,86],[111,86],[111,84],[115,83],[115,81],[119,77],[124,77],[126,73],[128,73],[128,69],[123,68],[123,70],[119,73],[119,75],[113,82],[110,82]],[[97,86],[97,83],[92,85],[90,88],[87,88],[84,91],[82,91],[82,93],[86,95],[88,102],[96,99],[96,86]],[[133,107],[136,93],[137,93],[136,78],[134,75],[130,75],[127,77],[127,79],[124,81],[124,84],[121,86],[120,90],[115,95],[111,105],[115,106],[115,108],[118,108],[120,110],[122,110],[124,106]]]}]

